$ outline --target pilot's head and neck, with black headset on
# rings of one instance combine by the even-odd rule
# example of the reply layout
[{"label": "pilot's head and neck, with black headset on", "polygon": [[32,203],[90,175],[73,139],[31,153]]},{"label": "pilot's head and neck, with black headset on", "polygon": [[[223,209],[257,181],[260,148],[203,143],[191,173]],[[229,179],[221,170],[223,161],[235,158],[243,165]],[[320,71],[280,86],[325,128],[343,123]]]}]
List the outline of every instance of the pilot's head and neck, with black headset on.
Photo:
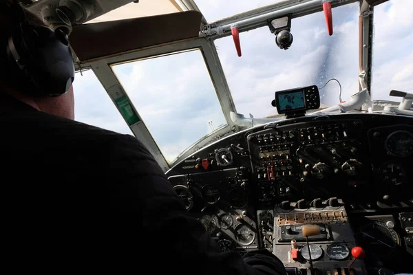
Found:
[{"label": "pilot's head and neck, with black headset on", "polygon": [[[22,43],[21,30],[26,30],[25,36],[32,37],[37,32],[47,32],[44,29],[47,25],[28,10],[17,6],[10,8],[10,5],[14,4],[17,5],[12,1],[10,4],[10,1],[0,0],[0,94],[8,94],[39,111],[73,120],[74,69],[69,65],[70,63],[73,65],[70,54],[65,52],[65,50],[67,52],[70,50],[60,43],[60,38],[59,42],[54,41],[53,47],[47,45],[42,50],[38,50],[33,45],[43,43],[44,40],[28,41],[28,44],[29,42],[33,44],[27,46],[24,42]],[[22,21],[25,23],[23,24]],[[32,27],[43,28],[32,32]],[[54,36],[55,34],[52,31],[50,33],[43,35]],[[59,37],[59,34],[57,36]],[[11,37],[14,37],[13,45],[10,44]],[[27,52],[25,52],[26,47],[29,47]],[[65,54],[60,54],[59,50]],[[59,58],[52,56],[53,52]],[[18,62],[19,58],[21,61]]]}]

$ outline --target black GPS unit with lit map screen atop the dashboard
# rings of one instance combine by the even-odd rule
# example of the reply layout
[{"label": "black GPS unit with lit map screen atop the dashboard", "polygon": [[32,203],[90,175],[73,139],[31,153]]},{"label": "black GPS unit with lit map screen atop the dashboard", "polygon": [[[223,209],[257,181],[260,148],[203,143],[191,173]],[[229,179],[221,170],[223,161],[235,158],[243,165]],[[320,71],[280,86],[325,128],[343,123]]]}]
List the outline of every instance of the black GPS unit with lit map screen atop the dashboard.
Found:
[{"label": "black GPS unit with lit map screen atop the dashboard", "polygon": [[297,118],[304,116],[307,110],[319,109],[320,94],[315,85],[276,91],[271,104],[277,107],[278,113],[285,113],[286,118]]}]

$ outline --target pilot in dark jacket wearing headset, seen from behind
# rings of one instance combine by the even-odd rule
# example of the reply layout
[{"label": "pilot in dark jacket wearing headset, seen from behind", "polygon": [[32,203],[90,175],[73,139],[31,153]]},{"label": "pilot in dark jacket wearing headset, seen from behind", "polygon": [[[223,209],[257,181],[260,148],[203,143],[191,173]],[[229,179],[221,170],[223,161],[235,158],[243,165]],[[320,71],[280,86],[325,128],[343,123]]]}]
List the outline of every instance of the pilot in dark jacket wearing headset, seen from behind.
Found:
[{"label": "pilot in dark jacket wearing headset, seen from behind", "polygon": [[266,250],[220,252],[135,137],[74,121],[67,37],[0,1],[4,265],[42,273],[286,274]]}]

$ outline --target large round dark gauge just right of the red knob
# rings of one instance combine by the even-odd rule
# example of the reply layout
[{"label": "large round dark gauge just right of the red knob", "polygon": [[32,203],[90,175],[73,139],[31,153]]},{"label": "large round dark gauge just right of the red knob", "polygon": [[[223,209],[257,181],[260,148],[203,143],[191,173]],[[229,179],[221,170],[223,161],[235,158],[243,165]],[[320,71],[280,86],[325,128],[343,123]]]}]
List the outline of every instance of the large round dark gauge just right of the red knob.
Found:
[{"label": "large round dark gauge just right of the red knob", "polygon": [[385,221],[371,219],[358,232],[361,247],[377,261],[384,261],[400,245],[399,235]]}]

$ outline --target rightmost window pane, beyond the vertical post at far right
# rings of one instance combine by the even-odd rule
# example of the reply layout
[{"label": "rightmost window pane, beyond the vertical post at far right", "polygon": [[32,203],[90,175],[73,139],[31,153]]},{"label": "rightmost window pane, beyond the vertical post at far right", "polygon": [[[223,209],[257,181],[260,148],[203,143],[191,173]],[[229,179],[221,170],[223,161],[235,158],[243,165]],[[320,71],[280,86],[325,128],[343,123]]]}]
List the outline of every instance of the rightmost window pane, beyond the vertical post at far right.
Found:
[{"label": "rightmost window pane, beyond the vertical post at far right", "polygon": [[374,7],[372,98],[400,101],[392,89],[413,92],[413,1]]}]

